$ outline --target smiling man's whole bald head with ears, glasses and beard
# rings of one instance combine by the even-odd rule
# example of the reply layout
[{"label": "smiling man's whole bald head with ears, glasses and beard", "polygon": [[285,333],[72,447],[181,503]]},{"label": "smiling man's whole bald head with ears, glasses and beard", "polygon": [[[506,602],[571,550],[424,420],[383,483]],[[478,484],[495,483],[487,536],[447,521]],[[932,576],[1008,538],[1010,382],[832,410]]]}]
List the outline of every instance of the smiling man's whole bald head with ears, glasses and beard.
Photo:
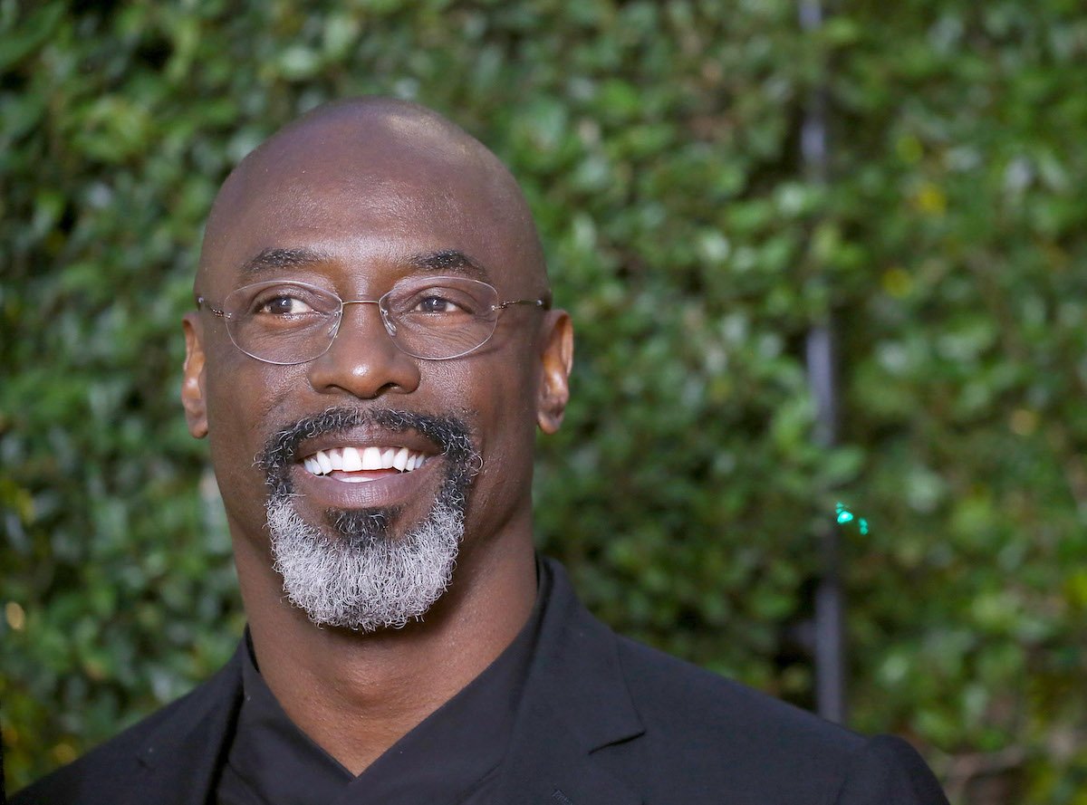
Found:
[{"label": "smiling man's whole bald head with ears, glasses and beard", "polygon": [[530,538],[534,431],[561,420],[572,336],[478,141],[396,101],[316,110],[224,184],[196,293],[183,400],[243,587],[274,567],[317,622],[401,626],[454,561]]}]

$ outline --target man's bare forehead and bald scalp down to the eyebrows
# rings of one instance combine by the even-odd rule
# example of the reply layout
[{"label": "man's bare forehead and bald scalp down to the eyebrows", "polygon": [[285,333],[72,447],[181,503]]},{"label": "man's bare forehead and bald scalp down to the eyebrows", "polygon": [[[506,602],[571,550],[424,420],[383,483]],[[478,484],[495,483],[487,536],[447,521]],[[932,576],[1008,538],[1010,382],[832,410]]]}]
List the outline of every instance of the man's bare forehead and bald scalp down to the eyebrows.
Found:
[{"label": "man's bare forehead and bald scalp down to the eyebrows", "polygon": [[521,291],[538,284],[534,246],[520,191],[474,140],[426,121],[334,120],[279,135],[230,176],[201,273],[224,292],[253,281],[262,254],[305,252],[323,260],[279,261],[265,276],[335,272],[370,292],[427,255],[462,254],[480,278]]}]

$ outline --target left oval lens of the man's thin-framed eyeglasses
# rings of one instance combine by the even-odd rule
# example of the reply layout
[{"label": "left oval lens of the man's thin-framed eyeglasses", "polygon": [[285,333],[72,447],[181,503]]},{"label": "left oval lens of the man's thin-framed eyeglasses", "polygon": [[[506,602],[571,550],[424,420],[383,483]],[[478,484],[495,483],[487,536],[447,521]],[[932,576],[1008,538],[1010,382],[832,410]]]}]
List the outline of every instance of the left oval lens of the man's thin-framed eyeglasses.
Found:
[{"label": "left oval lens of the man's thin-framed eyeglasses", "polygon": [[324,353],[340,310],[335,293],[302,282],[258,282],[223,302],[227,331],[238,349],[277,364],[303,363]]}]

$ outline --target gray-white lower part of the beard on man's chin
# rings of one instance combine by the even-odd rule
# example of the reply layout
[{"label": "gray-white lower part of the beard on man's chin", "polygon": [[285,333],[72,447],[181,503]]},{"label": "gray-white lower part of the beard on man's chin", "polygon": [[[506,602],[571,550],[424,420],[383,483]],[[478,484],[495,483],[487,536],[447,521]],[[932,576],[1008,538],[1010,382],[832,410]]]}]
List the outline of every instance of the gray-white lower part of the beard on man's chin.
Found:
[{"label": "gray-white lower part of the beard on man's chin", "polygon": [[290,602],[318,626],[362,632],[421,619],[452,581],[464,536],[463,507],[440,498],[399,538],[329,536],[302,519],[289,495],[270,500],[267,515]]}]

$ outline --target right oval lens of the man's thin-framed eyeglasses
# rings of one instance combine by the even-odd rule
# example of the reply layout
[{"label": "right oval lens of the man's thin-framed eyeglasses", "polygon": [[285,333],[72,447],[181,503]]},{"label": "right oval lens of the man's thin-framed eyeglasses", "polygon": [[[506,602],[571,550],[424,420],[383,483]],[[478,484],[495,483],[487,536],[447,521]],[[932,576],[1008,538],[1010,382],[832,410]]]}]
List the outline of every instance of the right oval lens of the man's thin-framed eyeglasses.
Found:
[{"label": "right oval lens of the man's thin-framed eyeglasses", "polygon": [[486,343],[498,319],[498,292],[463,277],[399,282],[380,306],[397,345],[415,357],[460,357]]}]

